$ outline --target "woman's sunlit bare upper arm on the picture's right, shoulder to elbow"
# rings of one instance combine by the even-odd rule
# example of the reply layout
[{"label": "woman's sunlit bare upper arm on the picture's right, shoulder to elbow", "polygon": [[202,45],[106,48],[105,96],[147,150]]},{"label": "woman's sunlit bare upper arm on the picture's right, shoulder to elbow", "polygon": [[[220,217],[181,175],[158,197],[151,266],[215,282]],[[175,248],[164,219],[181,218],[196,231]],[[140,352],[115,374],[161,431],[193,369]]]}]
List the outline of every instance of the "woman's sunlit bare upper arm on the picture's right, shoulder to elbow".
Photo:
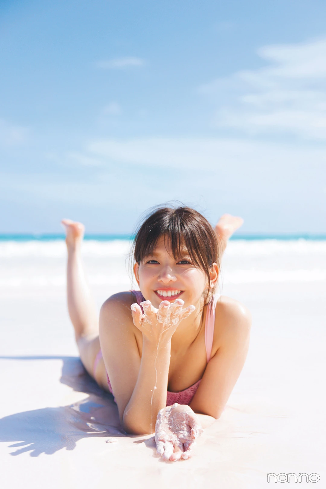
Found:
[{"label": "woman's sunlit bare upper arm on the picture's right, shoulder to elbow", "polygon": [[219,347],[207,364],[190,406],[219,418],[244,365],[250,337],[250,312],[237,301],[217,306],[221,328]]}]

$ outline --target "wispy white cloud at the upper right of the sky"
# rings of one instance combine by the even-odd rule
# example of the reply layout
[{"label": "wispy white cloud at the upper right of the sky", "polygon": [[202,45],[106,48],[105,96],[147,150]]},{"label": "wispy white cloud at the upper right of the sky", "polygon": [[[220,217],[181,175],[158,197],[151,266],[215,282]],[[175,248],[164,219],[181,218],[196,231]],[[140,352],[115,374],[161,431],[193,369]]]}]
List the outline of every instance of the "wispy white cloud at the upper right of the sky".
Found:
[{"label": "wispy white cloud at the upper right of the sky", "polygon": [[271,64],[200,87],[218,105],[215,124],[326,139],[326,39],[265,46],[258,54]]}]

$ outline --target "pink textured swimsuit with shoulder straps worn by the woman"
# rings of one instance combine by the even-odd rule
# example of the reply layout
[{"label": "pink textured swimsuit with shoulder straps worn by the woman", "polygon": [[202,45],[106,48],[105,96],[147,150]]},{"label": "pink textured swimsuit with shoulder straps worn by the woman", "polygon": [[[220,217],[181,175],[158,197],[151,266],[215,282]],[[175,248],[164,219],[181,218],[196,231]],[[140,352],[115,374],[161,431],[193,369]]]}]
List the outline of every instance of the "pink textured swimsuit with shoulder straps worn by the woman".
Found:
[{"label": "pink textured swimsuit with shoulder straps worn by the woman", "polygon": [[[137,299],[137,303],[140,305],[141,302],[143,302],[145,299],[143,297],[143,294],[141,293],[140,290],[131,290],[131,292],[135,295]],[[215,294],[212,299],[212,307],[210,307],[211,303],[207,305],[207,311],[206,311],[206,320],[205,320],[205,347],[206,347],[206,358],[207,358],[207,363],[211,359],[211,353],[212,353],[212,347],[213,347],[213,337],[214,337],[214,324],[215,324],[215,309],[217,305],[217,300],[219,298],[219,294]],[[102,352],[101,350],[98,352],[96,355],[95,361],[94,361],[94,367],[93,367],[93,372],[94,372],[94,377],[95,377],[95,371],[98,362],[102,358]],[[109,391],[113,394],[112,387],[110,384],[109,376],[108,377],[108,386],[109,386]],[[198,389],[198,386],[200,384],[200,380],[197,380],[197,382],[187,389],[184,389],[183,391],[180,392],[171,392],[168,391],[167,394],[167,400],[166,400],[166,405],[167,406],[172,406],[174,402],[177,402],[178,404],[190,404],[193,397],[195,396],[196,390]]]}]

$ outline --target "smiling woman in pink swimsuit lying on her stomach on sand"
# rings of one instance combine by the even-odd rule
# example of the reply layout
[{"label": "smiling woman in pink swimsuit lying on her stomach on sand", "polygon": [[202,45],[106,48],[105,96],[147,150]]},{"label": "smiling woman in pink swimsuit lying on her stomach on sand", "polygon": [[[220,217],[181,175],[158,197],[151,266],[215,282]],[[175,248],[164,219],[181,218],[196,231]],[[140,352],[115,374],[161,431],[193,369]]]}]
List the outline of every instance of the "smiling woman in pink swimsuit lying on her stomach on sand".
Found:
[{"label": "smiling woman in pink swimsuit lying on her stomach on sand", "polygon": [[221,415],[248,351],[250,313],[215,293],[219,259],[242,219],[226,214],[214,230],[189,207],[154,211],[134,241],[140,291],[109,297],[99,320],[81,263],[84,226],[63,224],[68,311],[87,372],[114,394],[126,432],[155,431],[164,460],[189,458]]}]

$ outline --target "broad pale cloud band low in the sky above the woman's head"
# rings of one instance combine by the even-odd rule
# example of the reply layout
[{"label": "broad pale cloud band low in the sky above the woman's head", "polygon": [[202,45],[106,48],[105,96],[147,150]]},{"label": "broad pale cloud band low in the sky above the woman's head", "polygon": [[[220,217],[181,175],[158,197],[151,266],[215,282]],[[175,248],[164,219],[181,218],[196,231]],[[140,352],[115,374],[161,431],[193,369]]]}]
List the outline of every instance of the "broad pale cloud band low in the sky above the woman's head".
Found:
[{"label": "broad pale cloud band low in the sky above the woman's head", "polygon": [[[114,206],[130,205],[141,194],[144,208],[160,201],[204,196],[212,208],[227,209],[241,202],[252,206],[254,213],[263,205],[282,212],[284,202],[292,211],[300,206],[309,212],[325,209],[326,151],[311,145],[236,138],[98,139],[65,157],[70,165],[81,167],[77,179],[72,174],[70,178],[40,174],[47,182],[40,185],[35,174],[19,182],[2,175],[1,192],[14,190],[21,196],[22,189],[24,193],[33,189],[45,200],[60,201],[68,201],[71,192],[71,201],[85,202],[87,196],[92,205],[111,202]],[[61,184],[65,192],[59,196]]]}]

